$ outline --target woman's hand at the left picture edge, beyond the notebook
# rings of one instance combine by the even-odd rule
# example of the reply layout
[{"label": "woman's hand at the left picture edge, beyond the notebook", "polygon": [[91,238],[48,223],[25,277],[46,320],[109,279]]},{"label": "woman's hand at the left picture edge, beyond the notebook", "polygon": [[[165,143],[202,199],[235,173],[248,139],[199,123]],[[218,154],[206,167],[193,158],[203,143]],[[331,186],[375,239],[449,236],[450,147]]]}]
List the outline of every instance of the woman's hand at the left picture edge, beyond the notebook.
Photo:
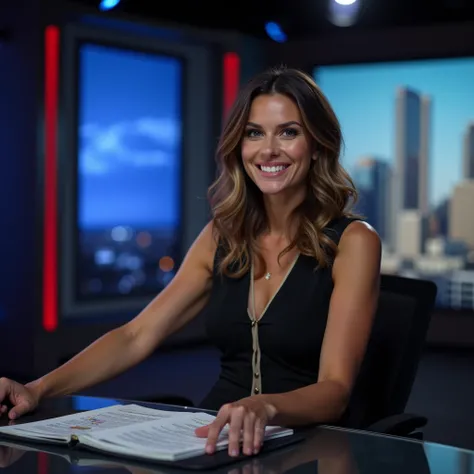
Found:
[{"label": "woman's hand at the left picture edge, beyond the notebook", "polygon": [[[38,394],[30,387],[5,377],[0,378],[0,416],[7,414],[10,420],[34,410],[39,403]],[[8,405],[12,405],[8,409]]]}]

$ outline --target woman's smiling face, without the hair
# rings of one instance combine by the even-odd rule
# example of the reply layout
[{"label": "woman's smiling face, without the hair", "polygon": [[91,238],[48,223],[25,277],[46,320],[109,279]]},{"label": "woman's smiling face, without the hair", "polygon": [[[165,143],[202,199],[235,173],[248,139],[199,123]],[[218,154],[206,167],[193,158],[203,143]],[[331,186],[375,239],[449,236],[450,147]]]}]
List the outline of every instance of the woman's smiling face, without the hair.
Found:
[{"label": "woman's smiling face, without the hair", "polygon": [[262,193],[293,193],[305,188],[311,146],[299,109],[288,97],[255,98],[241,152],[247,174]]}]

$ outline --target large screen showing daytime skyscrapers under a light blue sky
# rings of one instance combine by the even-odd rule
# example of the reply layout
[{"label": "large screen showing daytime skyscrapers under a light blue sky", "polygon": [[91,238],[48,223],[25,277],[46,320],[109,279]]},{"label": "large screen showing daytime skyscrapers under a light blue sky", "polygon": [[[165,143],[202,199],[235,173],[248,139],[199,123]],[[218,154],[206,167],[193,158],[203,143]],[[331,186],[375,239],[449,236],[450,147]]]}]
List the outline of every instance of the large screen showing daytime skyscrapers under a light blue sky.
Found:
[{"label": "large screen showing daytime skyscrapers under a light blue sky", "polygon": [[439,307],[474,309],[474,58],[314,77],[341,122],[356,210],[383,240],[383,272],[433,280]]}]

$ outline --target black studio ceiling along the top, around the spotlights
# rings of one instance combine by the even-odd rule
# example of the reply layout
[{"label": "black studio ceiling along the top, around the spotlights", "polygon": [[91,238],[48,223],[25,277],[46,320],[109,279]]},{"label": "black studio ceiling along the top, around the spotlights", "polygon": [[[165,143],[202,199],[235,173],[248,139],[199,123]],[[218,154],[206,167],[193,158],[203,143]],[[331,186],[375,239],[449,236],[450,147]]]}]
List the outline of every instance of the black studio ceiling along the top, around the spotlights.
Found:
[{"label": "black studio ceiling along the top, around the spotlights", "polygon": [[[75,0],[96,8],[99,0]],[[264,24],[276,21],[291,38],[315,37],[335,29],[328,17],[333,0],[240,0],[235,2],[122,0],[116,9],[146,19],[197,27],[232,29],[264,36]],[[361,10],[351,28],[426,25],[474,20],[474,0],[359,0]]]}]

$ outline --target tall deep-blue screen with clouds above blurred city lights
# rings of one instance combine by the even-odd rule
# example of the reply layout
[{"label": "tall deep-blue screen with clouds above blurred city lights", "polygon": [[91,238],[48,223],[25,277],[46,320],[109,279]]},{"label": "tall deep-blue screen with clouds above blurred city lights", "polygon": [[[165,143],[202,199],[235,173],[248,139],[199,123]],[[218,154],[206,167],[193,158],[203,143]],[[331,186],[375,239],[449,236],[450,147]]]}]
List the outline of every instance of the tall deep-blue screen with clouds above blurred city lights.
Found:
[{"label": "tall deep-blue screen with clouds above blurred city lights", "polygon": [[76,300],[155,295],[180,260],[183,64],[78,48]]}]

